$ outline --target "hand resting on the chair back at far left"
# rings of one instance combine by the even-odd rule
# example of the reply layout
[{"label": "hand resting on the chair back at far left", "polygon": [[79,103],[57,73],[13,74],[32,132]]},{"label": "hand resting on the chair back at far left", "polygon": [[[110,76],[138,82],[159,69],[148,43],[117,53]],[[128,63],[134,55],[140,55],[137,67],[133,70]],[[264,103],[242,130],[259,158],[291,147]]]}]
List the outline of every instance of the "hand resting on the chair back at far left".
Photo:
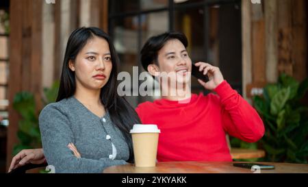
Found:
[{"label": "hand resting on the chair back at far left", "polygon": [[13,157],[8,172],[28,163],[42,164],[44,162],[46,160],[42,149],[23,149]]}]

